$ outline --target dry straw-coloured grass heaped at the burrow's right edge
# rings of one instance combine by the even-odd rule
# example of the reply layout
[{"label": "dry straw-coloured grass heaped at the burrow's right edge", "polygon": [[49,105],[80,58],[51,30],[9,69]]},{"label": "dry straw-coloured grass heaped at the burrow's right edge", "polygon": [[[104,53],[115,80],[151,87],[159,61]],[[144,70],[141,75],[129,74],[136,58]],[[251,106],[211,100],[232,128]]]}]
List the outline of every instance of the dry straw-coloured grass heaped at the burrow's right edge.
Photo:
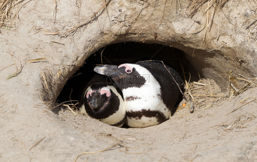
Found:
[{"label": "dry straw-coloured grass heaped at the burrow's right edge", "polygon": [[[215,81],[210,80],[210,79],[201,79],[198,82],[188,83],[189,87],[188,88],[185,87],[184,95],[186,96],[186,98],[190,98],[189,96],[193,96],[192,102],[195,105],[195,108],[197,110],[199,110],[199,109],[204,110],[204,109],[215,106],[216,105],[215,103],[220,99],[224,99],[226,97],[237,96],[237,95],[243,93],[245,90],[249,89],[250,87],[257,87],[257,82],[256,82],[257,79],[256,78],[246,78],[246,77],[238,74],[240,76],[239,77],[232,73],[230,73],[228,75],[229,75],[229,86],[228,86],[228,91],[226,94],[221,93],[221,90],[219,89],[219,87],[215,83]],[[236,81],[237,82],[243,81],[245,84],[241,87],[238,87],[238,83]],[[234,85],[232,84],[232,82],[234,83]],[[248,98],[240,101],[239,103],[245,102],[245,100],[247,100],[247,99]],[[227,113],[226,115],[240,109],[244,105],[247,105],[253,101],[256,101],[255,97],[252,97],[251,100],[242,104],[238,108],[235,108],[234,110]],[[187,108],[189,107],[190,103],[186,102],[185,100],[182,100],[181,103],[184,103],[184,106],[180,105],[177,108],[176,112],[178,112],[180,110],[180,113],[181,113],[184,110],[188,110]],[[183,110],[181,111],[181,109],[183,109]],[[191,112],[190,109],[189,109],[189,111]]]}]

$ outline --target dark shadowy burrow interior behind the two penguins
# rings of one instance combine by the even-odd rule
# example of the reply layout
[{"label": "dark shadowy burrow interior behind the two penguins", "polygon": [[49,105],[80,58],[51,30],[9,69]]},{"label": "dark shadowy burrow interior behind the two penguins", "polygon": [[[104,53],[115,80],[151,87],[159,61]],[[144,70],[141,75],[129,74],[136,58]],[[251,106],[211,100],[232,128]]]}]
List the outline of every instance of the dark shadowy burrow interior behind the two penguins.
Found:
[{"label": "dark shadowy burrow interior behind the two penguins", "polygon": [[[73,104],[78,103],[82,92],[95,72],[94,67],[99,64],[120,65],[123,63],[137,63],[145,60],[160,60],[177,70],[184,80],[190,82],[198,81],[201,72],[194,69],[186,58],[186,54],[170,46],[160,44],[142,44],[135,42],[116,43],[106,46],[85,61],[85,64],[75,72],[67,81],[56,102],[62,103],[72,100]],[[183,67],[183,70],[182,70]],[[201,76],[201,78],[204,76]]]}]

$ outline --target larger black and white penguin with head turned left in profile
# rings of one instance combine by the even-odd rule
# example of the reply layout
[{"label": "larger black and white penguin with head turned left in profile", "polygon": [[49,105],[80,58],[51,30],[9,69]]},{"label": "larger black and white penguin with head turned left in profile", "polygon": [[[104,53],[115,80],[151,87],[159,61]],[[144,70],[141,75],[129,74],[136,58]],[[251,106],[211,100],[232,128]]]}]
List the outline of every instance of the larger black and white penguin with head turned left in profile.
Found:
[{"label": "larger black and white penguin with head turned left in profile", "polygon": [[[180,89],[183,81],[177,71],[167,66]],[[133,128],[160,124],[171,117],[180,99],[178,85],[162,63],[146,61],[120,66],[100,65],[94,71],[113,78],[122,90],[126,108],[126,125]]]}]

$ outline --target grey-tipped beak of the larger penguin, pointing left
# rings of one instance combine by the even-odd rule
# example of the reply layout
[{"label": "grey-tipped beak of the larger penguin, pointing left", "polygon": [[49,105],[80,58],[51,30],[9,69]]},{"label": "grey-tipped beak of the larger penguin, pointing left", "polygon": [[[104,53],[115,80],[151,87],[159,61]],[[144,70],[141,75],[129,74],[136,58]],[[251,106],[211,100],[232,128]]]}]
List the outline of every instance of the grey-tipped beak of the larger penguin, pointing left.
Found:
[{"label": "grey-tipped beak of the larger penguin, pointing left", "polygon": [[98,65],[94,68],[94,71],[111,77],[119,77],[122,73],[119,71],[118,66],[115,65]]}]

